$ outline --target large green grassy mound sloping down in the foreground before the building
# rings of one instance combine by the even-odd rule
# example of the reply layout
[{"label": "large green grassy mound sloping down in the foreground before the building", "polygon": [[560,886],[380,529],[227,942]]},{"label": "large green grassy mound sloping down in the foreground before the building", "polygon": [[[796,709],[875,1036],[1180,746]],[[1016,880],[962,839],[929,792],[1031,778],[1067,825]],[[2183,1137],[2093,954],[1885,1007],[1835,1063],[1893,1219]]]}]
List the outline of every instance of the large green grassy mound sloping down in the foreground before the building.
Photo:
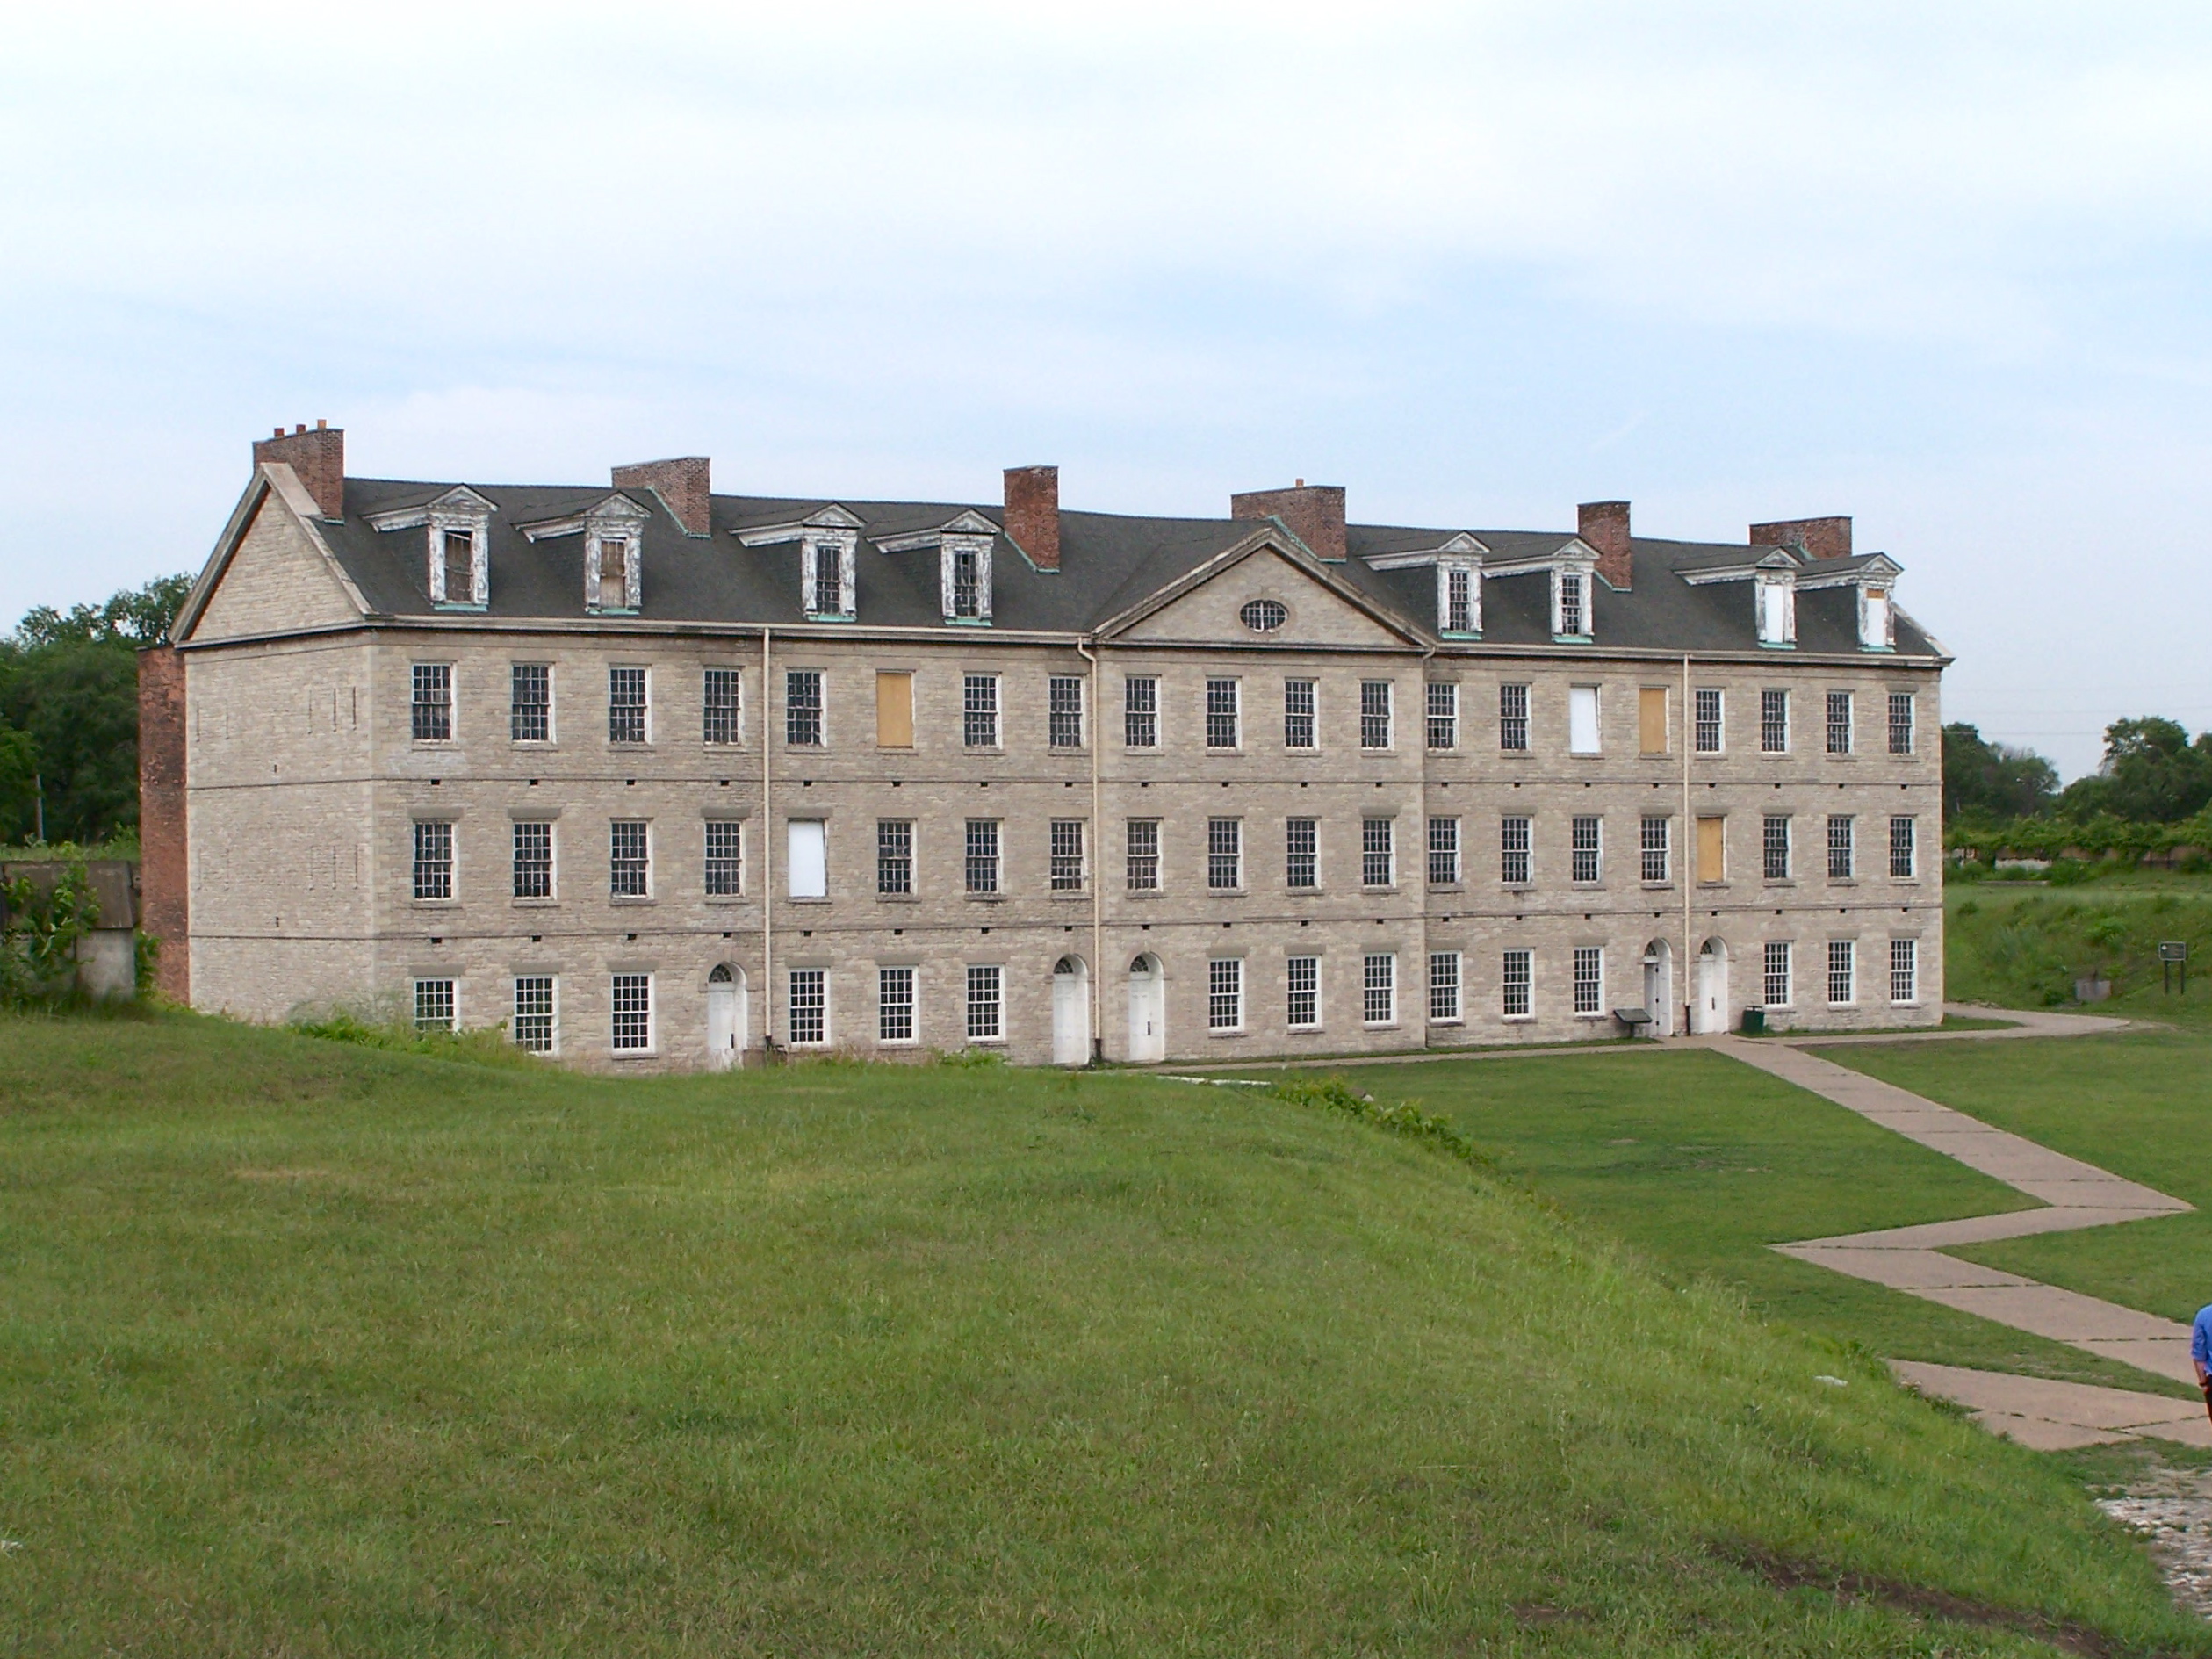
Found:
[{"label": "large green grassy mound sloping down in the foreground before the building", "polygon": [[0,1172],[9,1652],[2212,1652],[2048,1460],[1259,1091],[9,1018]]}]

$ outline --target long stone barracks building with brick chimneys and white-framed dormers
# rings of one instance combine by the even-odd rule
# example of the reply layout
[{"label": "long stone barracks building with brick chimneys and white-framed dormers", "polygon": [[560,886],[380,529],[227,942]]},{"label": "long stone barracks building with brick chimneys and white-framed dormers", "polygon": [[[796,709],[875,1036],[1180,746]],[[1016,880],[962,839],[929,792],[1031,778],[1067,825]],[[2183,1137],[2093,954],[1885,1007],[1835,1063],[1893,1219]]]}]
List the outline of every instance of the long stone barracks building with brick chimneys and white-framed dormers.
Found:
[{"label": "long stone barracks building with brick chimneys and white-framed dormers", "polygon": [[173,995],[593,1066],[1936,1024],[1942,646],[1743,542],[345,476],[299,427],[148,653]]}]

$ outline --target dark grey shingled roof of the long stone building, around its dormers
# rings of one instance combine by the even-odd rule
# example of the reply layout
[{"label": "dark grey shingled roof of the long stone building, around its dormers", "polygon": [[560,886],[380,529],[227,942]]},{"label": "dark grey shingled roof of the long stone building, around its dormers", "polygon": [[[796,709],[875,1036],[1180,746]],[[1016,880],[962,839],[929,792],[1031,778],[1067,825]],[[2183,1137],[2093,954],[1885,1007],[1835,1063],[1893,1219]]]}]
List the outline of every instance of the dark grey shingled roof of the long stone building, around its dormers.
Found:
[{"label": "dark grey shingled roof of the long stone building, around its dormers", "polygon": [[[427,507],[456,484],[385,478],[345,480],[345,520],[319,529],[345,573],[380,615],[434,615],[422,557],[422,531],[376,531],[372,515]],[[495,507],[491,520],[489,615],[513,619],[584,617],[584,538],[529,542],[515,529],[538,520],[588,511],[613,487],[471,484]],[[714,495],[712,535],[686,535],[648,489],[619,491],[648,509],[644,533],[644,622],[803,624],[799,544],[743,546],[739,531],[790,524],[827,507],[860,520],[858,591],[863,624],[945,626],[938,608],[938,560],[929,549],[885,553],[878,540],[938,529],[960,513],[1002,522],[995,504],[969,502],[858,502],[787,500],[772,495]],[[1060,515],[1060,571],[1031,568],[1004,535],[993,555],[991,615],[1000,628],[1082,635],[1177,582],[1208,560],[1248,540],[1252,520],[1139,518],[1130,513]],[[1436,635],[1436,573],[1425,566],[1376,571],[1369,555],[1420,553],[1442,546],[1455,529],[1349,524],[1349,555],[1329,564],[1332,575],[1376,608],[1396,615],[1418,637]],[[1575,540],[1573,531],[1467,531],[1491,549],[1493,562],[1544,560]],[[1595,584],[1593,635],[1597,648],[1756,650],[1750,586],[1712,582],[1690,586],[1677,571],[1750,564],[1770,549],[1714,542],[1659,542],[1637,538],[1635,591]],[[1807,573],[1858,568],[1867,560],[1814,562]],[[1798,595],[1798,648],[1858,655],[1858,595],[1849,586]],[[1482,641],[1551,646],[1551,586],[1542,571],[1489,571],[1482,584]],[[1940,648],[1907,617],[1896,619],[1905,657],[1938,657]],[[1573,650],[1573,646],[1564,646]]]}]

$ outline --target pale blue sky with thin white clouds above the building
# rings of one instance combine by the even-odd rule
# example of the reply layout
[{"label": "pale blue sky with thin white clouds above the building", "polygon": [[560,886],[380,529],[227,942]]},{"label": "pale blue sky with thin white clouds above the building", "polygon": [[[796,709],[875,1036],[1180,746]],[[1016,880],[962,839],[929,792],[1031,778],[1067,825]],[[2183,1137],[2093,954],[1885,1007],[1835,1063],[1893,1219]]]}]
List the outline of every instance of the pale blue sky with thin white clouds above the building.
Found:
[{"label": "pale blue sky with thin white clouds above the building", "polygon": [[1854,513],[1947,714],[2212,726],[2212,13],[0,9],[0,626],[349,469]]}]

